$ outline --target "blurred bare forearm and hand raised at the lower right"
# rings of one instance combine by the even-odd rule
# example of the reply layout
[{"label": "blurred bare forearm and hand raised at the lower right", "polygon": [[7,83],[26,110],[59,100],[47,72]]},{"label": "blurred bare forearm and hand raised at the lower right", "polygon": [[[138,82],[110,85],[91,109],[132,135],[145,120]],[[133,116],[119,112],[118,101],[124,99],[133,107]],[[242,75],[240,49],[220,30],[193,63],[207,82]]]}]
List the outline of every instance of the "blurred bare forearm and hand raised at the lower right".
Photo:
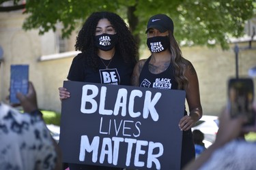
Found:
[{"label": "blurred bare forearm and hand raised at the lower right", "polygon": [[195,161],[190,162],[184,170],[196,170],[199,169],[208,159],[214,154],[215,150],[218,150],[232,139],[236,139],[242,132],[242,124],[245,122],[244,117],[238,117],[231,119],[227,109],[220,117],[220,125],[218,133],[216,135],[216,141],[205,150],[201,156]]}]

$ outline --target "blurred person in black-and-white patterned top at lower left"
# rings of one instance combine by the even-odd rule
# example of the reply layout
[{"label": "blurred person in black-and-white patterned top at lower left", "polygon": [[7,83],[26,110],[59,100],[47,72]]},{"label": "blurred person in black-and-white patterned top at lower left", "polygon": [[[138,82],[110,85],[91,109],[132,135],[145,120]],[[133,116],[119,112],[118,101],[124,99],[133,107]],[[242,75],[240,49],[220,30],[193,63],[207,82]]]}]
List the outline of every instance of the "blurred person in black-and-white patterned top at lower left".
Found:
[{"label": "blurred person in black-and-white patterned top at lower left", "polygon": [[42,119],[33,84],[17,98],[24,114],[0,102],[0,169],[61,169],[61,152]]}]

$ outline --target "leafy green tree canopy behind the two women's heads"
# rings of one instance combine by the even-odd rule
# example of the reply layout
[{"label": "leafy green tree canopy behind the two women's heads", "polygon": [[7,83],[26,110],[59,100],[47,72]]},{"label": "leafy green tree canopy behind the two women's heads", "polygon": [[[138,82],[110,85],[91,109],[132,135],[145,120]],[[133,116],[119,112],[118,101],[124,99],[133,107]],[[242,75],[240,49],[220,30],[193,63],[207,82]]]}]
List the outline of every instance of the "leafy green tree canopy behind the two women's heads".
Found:
[{"label": "leafy green tree canopy behind the two women's heads", "polygon": [[[127,20],[137,41],[143,39],[145,44],[148,18],[164,13],[173,19],[174,35],[182,44],[220,44],[227,49],[229,37],[244,34],[244,24],[253,17],[255,3],[255,0],[27,0],[24,13],[29,16],[23,29],[39,29],[43,34],[50,29],[55,31],[56,23],[61,22],[62,35],[68,37],[91,12],[106,10]],[[14,5],[18,5],[18,0],[14,0]]]}]

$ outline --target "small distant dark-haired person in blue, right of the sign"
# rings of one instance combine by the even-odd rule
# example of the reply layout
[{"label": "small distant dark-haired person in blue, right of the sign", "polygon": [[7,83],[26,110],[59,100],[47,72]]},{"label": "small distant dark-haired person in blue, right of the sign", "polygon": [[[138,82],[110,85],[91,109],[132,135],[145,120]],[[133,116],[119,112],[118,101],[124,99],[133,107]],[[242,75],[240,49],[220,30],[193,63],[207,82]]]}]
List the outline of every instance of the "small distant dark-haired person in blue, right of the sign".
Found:
[{"label": "small distant dark-haired person in blue, right of the sign", "polygon": [[205,146],[203,143],[204,135],[198,129],[195,129],[192,132],[192,134],[193,134],[193,141],[195,144],[195,157],[197,158],[205,150]]}]

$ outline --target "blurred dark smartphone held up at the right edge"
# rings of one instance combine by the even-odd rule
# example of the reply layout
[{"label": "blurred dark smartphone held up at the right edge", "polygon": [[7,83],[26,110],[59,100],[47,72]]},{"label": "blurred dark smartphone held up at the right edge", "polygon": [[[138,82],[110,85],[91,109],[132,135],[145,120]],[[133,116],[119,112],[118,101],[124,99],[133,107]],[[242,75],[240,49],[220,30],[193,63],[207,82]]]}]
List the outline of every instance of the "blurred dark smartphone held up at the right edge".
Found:
[{"label": "blurred dark smartphone held up at the right edge", "polygon": [[229,112],[231,118],[241,114],[246,116],[245,126],[255,124],[253,109],[254,88],[251,78],[231,78],[228,83]]}]

